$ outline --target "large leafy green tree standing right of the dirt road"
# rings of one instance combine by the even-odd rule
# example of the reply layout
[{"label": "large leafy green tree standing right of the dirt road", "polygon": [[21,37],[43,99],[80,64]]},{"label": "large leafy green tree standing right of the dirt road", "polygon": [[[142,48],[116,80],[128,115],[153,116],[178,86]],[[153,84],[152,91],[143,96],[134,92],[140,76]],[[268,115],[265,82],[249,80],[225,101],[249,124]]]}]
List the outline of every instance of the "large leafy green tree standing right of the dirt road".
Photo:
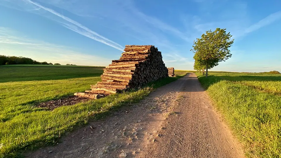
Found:
[{"label": "large leafy green tree standing right of the dirt road", "polygon": [[232,46],[234,39],[231,40],[230,32],[226,33],[226,29],[217,28],[215,31],[206,31],[201,38],[197,38],[193,42],[193,59],[206,68],[206,77],[208,69],[217,66],[220,61],[229,59],[232,54],[229,47]]}]

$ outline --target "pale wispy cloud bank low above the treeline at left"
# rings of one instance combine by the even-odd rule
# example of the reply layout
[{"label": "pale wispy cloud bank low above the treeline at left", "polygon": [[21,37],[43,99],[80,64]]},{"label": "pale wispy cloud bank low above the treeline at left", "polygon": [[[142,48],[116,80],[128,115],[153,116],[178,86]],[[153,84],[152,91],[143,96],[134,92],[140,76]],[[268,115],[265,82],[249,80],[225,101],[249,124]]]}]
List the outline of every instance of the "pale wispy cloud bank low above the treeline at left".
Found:
[{"label": "pale wispy cloud bank low above the treeline at left", "polygon": [[23,38],[17,34],[18,32],[11,29],[0,27],[1,55],[25,56],[37,61],[92,66],[105,66],[111,61],[104,57],[74,51],[74,48]]}]

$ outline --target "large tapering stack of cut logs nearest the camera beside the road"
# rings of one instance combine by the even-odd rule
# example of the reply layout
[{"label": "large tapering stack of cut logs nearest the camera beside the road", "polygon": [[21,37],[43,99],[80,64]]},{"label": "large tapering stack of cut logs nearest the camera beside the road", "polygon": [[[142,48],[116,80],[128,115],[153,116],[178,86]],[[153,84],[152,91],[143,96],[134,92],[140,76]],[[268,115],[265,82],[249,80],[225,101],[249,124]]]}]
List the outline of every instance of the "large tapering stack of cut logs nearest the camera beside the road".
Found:
[{"label": "large tapering stack of cut logs nearest the camera beside the road", "polygon": [[112,64],[103,69],[102,82],[91,85],[92,90],[74,95],[99,99],[168,77],[161,51],[152,45],[126,45],[121,55],[120,59],[112,60]]}]

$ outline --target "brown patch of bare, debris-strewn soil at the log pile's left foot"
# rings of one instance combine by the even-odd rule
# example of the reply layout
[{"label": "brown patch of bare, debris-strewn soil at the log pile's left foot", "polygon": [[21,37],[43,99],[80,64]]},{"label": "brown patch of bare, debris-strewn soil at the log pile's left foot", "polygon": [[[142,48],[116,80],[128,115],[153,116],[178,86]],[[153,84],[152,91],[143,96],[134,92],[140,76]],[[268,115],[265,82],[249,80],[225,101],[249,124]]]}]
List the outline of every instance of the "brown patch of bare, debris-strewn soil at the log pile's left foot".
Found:
[{"label": "brown patch of bare, debris-strewn soil at the log pile's left foot", "polygon": [[90,98],[83,98],[78,96],[70,96],[70,97],[63,97],[61,99],[51,100],[48,102],[42,102],[37,104],[37,107],[40,108],[48,108],[50,110],[54,110],[57,107],[67,106],[67,105],[74,105],[80,102],[87,102]]}]

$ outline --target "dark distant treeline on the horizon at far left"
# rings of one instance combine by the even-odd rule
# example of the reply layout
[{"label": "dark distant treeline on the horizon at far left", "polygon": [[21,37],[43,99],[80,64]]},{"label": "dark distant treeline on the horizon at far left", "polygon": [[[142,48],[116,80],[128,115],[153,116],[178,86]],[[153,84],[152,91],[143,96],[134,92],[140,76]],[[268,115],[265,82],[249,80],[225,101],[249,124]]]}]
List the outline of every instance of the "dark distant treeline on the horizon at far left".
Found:
[{"label": "dark distant treeline on the horizon at far left", "polygon": [[0,55],[0,65],[15,65],[15,64],[34,64],[34,65],[61,65],[59,63],[48,63],[47,61],[39,62],[22,56],[4,56]]}]

